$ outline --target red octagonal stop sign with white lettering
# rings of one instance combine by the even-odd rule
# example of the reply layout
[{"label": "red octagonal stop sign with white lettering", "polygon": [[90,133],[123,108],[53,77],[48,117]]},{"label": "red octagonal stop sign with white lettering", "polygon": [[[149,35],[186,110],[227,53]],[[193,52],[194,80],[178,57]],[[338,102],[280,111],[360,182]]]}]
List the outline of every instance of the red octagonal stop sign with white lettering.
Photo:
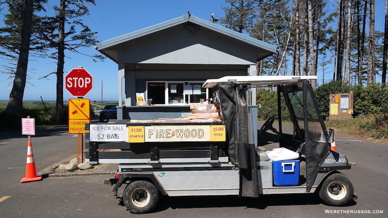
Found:
[{"label": "red octagonal stop sign with white lettering", "polygon": [[72,69],[65,77],[65,88],[73,96],[85,96],[93,89],[93,77],[83,68]]}]

